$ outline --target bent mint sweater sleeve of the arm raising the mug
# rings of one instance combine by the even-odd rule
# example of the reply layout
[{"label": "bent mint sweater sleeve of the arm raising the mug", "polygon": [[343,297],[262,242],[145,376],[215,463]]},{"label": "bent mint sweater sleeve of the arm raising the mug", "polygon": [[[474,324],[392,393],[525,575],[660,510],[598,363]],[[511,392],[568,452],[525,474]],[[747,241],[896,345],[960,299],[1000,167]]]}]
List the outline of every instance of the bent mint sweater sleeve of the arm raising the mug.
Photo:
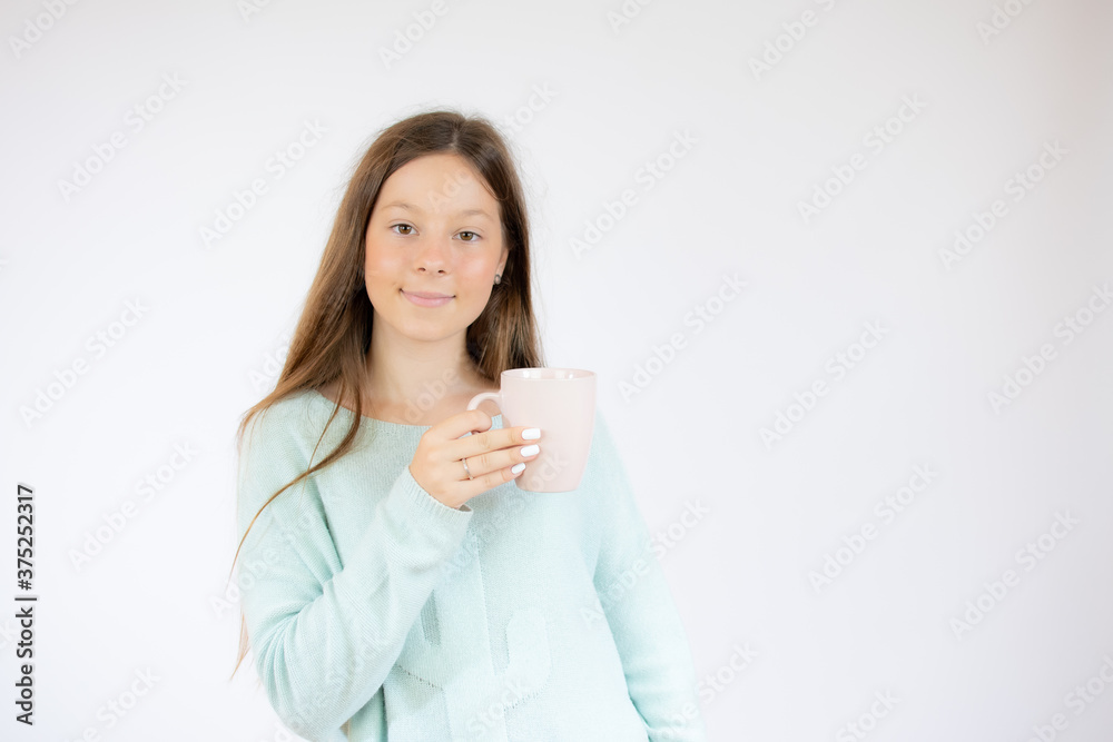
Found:
[{"label": "bent mint sweater sleeve of the arm raising the mug", "polygon": [[[317,443],[319,433],[299,431],[304,419],[282,404],[245,431],[239,536],[263,503],[305,472]],[[371,494],[353,482],[345,496]],[[471,516],[403,467],[342,566],[315,475],[264,508],[240,551],[240,605],[256,670],[286,726],[312,741],[343,739],[337,730],[382,686]]]}]

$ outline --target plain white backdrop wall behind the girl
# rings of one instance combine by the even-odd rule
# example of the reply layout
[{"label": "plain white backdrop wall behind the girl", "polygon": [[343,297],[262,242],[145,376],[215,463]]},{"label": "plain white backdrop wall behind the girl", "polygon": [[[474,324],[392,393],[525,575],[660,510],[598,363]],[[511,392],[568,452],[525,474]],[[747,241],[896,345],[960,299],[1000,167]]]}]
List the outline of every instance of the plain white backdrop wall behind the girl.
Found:
[{"label": "plain white backdrop wall behind the girl", "polygon": [[233,434],[355,161],[439,106],[521,161],[545,358],[600,375],[711,739],[1110,739],[1110,3],[9,0],[0,30],[3,739],[292,739],[227,680]]}]

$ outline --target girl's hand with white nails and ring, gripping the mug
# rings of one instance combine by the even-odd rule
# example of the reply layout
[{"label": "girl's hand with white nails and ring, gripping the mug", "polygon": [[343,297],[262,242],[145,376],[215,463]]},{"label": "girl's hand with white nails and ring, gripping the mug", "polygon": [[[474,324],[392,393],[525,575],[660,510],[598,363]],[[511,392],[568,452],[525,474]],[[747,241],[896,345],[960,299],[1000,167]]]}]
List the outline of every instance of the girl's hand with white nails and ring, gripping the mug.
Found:
[{"label": "girl's hand with white nails and ring, gripping the mug", "polygon": [[[532,444],[541,432],[524,426],[492,431],[491,424],[491,416],[482,409],[469,409],[430,427],[410,463],[414,481],[436,499],[459,509],[475,495],[520,476],[525,468],[523,462],[541,453]],[[465,433],[472,435],[461,437]],[[518,471],[512,471],[518,464]]]}]

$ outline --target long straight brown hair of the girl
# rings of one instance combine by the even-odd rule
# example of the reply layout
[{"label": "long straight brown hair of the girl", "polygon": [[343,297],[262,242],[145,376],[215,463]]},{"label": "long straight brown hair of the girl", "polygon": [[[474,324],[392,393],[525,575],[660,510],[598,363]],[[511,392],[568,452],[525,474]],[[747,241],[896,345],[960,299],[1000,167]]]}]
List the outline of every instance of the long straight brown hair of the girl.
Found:
[{"label": "long straight brown hair of the girl", "polygon": [[[314,472],[348,453],[358,433],[371,348],[372,305],[364,279],[367,225],[378,191],[398,168],[423,155],[455,154],[467,160],[491,189],[500,206],[503,244],[509,248],[501,280],[494,285],[483,313],[466,333],[466,352],[475,370],[498,382],[508,368],[543,365],[541,344],[530,293],[530,229],[525,198],[510,150],[494,126],[483,117],[455,111],[429,111],[383,129],[361,159],[348,182],[313,279],[297,329],[289,343],[286,363],[274,392],[248,409],[237,431],[237,451],[243,455],[244,432],[253,417],[270,405],[306,389],[337,382],[337,400],[325,424],[352,399],[355,415],[339,445],[263,503],[236,547],[239,550],[255,521],[275,497]],[[317,441],[321,444],[322,437]],[[314,449],[314,454],[316,449]],[[229,573],[230,580],[230,573]],[[247,654],[247,621],[240,606],[239,656],[235,676]]]}]

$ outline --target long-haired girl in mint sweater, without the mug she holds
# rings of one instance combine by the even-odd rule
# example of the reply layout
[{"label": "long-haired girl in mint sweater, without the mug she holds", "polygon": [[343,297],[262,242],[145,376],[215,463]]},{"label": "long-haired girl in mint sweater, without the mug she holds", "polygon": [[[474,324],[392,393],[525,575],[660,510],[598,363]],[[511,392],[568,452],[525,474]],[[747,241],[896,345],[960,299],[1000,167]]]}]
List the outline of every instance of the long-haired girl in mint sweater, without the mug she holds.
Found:
[{"label": "long-haired girl in mint sweater, without the mug she holds", "polygon": [[455,112],[388,127],[277,386],[238,429],[236,667],[249,637],[290,730],[705,739],[683,625],[598,410],[579,488],[533,493],[513,479],[545,432],[465,409],[541,365],[505,142]]}]

